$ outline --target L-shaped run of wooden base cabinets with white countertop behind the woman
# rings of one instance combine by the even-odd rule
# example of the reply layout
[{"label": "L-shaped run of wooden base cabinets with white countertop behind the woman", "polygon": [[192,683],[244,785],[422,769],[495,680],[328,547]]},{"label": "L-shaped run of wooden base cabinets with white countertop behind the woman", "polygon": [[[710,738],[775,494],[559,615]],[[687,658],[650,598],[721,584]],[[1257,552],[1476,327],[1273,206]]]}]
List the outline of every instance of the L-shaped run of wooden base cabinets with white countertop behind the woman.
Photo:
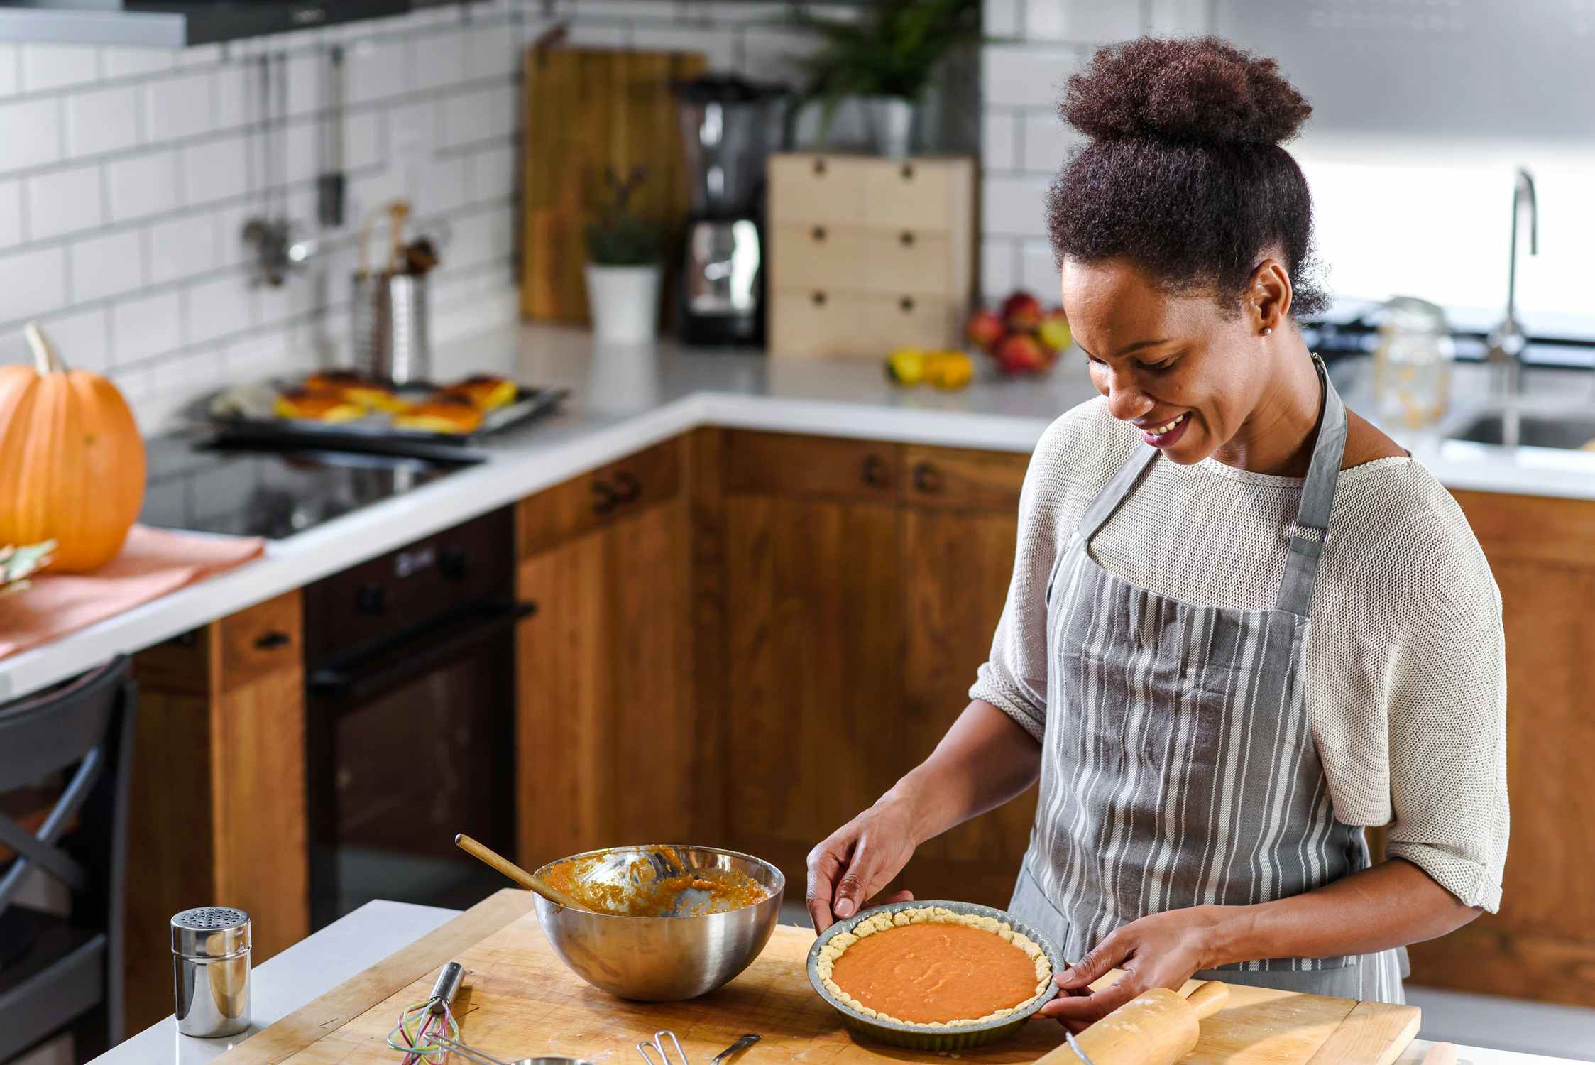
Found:
[{"label": "L-shaped run of wooden base cabinets with white countertop behind the woman", "polygon": [[[1061,411],[1094,395],[1077,356],[1042,381],[983,373],[935,392],[898,389],[874,362],[603,348],[552,327],[478,336],[435,362],[440,378],[501,373],[573,395],[558,416],[491,438],[474,467],[0,660],[0,698],[13,698],[139,652],[140,729],[171,760],[134,772],[136,796],[160,792],[134,810],[136,1024],[163,1009],[150,974],[164,971],[177,909],[250,910],[257,960],[311,928],[305,585],[514,509],[515,596],[539,606],[515,633],[517,858],[691,839],[756,853],[801,883],[807,848],[928,753],[963,706],[1006,591],[1027,456]],[[1332,367],[1357,410],[1365,371]],[[1458,368],[1458,415],[1485,379],[1482,367]],[[1566,405],[1587,402],[1592,381],[1546,371],[1526,386]],[[1458,494],[1502,588],[1520,799],[1506,909],[1415,949],[1413,981],[1595,1006],[1582,875],[1595,840],[1568,827],[1595,816],[1581,768],[1595,741],[1581,709],[1595,684],[1582,625],[1595,596],[1595,454],[1396,435]],[[879,706],[896,711],[860,713]],[[652,770],[633,772],[644,759]],[[906,883],[1003,904],[1030,802],[931,840]]]}]

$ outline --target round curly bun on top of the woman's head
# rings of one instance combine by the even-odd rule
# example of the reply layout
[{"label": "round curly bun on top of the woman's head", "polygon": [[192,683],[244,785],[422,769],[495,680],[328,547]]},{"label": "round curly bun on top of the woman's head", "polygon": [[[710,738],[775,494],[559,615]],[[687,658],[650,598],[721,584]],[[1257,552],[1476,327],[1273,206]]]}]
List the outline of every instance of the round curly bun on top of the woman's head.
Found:
[{"label": "round curly bun on top of the woman's head", "polygon": [[1217,38],[1140,37],[1097,49],[1069,78],[1064,121],[1097,140],[1282,143],[1313,113],[1273,59]]}]

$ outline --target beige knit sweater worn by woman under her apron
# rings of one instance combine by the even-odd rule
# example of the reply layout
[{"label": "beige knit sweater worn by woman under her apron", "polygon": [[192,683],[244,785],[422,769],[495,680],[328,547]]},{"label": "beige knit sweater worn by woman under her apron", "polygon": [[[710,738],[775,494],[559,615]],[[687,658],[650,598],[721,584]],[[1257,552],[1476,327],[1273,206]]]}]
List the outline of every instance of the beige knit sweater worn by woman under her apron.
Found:
[{"label": "beige knit sweater worn by woman under her apron", "polygon": [[[1038,735],[1046,579],[1140,435],[1101,399],[1059,418],[1030,459],[1019,548],[990,660],[970,689]],[[1150,591],[1266,609],[1302,480],[1214,459],[1156,461],[1091,553]],[[1412,459],[1343,470],[1313,596],[1306,709],[1337,816],[1388,824],[1388,855],[1495,912],[1506,863],[1501,598],[1450,493]],[[1067,713],[1067,706],[1054,708]]]}]

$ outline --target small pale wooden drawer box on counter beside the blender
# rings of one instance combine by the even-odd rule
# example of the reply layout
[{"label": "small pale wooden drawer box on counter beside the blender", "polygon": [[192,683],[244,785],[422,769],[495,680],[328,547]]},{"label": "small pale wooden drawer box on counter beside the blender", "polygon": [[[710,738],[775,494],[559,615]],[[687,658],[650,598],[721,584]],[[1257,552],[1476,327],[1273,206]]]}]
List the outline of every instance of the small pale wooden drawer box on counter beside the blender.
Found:
[{"label": "small pale wooden drawer box on counter beside the blender", "polygon": [[975,287],[975,163],[770,161],[770,354],[955,348]]}]

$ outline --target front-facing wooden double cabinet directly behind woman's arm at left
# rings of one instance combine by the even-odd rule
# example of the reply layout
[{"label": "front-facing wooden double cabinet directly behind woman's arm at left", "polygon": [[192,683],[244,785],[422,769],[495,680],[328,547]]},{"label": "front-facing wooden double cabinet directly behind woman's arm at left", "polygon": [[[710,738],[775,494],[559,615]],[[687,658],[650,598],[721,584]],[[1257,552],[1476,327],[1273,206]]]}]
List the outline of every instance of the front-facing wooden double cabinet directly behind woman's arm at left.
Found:
[{"label": "front-facing wooden double cabinet directly behind woman's arm at left", "polygon": [[[1013,568],[1027,456],[727,432],[734,847],[786,872],[968,703]],[[1005,904],[1032,799],[922,848],[922,898]]]}]

